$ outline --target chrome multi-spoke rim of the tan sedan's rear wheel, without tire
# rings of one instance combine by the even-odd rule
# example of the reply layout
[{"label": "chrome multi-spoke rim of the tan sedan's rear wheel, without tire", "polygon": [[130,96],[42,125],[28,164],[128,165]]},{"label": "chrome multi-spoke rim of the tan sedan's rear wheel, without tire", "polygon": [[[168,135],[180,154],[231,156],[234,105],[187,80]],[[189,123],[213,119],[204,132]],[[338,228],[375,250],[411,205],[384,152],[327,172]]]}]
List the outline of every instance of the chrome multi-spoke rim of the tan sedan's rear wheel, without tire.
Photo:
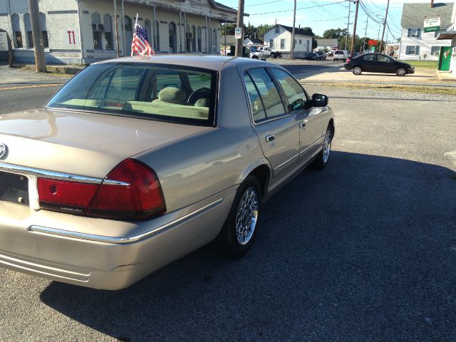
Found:
[{"label": "chrome multi-spoke rim of the tan sedan's rear wheel, without tire", "polygon": [[242,195],[236,213],[236,239],[241,245],[248,244],[257,227],[259,195],[254,187],[249,187]]}]

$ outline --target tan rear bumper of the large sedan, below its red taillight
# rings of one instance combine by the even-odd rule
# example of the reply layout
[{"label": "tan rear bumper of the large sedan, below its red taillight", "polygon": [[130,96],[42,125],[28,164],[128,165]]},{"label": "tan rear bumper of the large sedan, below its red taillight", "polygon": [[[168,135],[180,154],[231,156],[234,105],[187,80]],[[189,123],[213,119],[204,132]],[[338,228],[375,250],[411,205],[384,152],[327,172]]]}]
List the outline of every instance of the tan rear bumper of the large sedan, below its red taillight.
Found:
[{"label": "tan rear bumper of the large sedan, below its red taillight", "polygon": [[[51,215],[40,215],[46,211],[0,202],[0,212],[11,213],[1,214],[0,266],[94,289],[123,289],[212,241],[227,217],[234,192],[205,200],[199,209],[191,206],[137,224],[51,213],[71,218],[71,224],[63,225],[65,217],[53,221],[46,219]],[[84,228],[93,234],[75,229],[78,219],[79,224],[90,224]],[[120,232],[123,224],[130,234],[95,234],[109,222],[113,232]]]}]

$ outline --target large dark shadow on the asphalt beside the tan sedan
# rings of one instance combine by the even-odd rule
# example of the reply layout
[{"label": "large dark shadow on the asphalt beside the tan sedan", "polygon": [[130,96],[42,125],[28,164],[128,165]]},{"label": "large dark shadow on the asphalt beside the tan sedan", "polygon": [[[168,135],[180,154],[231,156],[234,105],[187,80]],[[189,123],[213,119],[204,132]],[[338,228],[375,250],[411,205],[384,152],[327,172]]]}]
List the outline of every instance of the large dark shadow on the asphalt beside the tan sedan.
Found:
[{"label": "large dark shadow on the asphalt beside the tan sedan", "polygon": [[52,282],[43,303],[120,341],[455,338],[456,173],[331,152],[261,209],[247,256],[207,248],[121,291]]}]

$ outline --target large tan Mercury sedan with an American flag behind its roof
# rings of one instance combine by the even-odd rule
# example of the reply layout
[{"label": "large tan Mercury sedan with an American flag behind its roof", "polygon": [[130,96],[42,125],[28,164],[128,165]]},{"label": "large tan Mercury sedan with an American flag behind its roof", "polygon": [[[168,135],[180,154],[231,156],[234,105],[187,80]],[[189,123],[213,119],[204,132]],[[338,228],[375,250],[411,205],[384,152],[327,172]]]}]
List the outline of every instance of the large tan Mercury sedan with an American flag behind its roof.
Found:
[{"label": "large tan Mercury sedan with an American flag behind its roof", "polygon": [[209,243],[241,257],[264,201],[326,167],[334,136],[325,95],[224,56],[94,63],[0,122],[0,266],[96,289]]}]

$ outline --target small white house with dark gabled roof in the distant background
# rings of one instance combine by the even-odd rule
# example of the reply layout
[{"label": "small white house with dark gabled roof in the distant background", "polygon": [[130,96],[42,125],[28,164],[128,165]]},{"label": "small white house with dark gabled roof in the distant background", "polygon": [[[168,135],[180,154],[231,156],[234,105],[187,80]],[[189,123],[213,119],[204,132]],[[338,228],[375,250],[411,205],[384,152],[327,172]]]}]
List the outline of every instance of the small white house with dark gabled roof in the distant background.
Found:
[{"label": "small white house with dark gabled roof in the distant background", "polygon": [[[264,33],[264,45],[274,51],[279,51],[283,58],[291,54],[291,26],[276,24]],[[312,37],[306,36],[302,28],[294,28],[294,57],[304,58],[312,51]]]}]

